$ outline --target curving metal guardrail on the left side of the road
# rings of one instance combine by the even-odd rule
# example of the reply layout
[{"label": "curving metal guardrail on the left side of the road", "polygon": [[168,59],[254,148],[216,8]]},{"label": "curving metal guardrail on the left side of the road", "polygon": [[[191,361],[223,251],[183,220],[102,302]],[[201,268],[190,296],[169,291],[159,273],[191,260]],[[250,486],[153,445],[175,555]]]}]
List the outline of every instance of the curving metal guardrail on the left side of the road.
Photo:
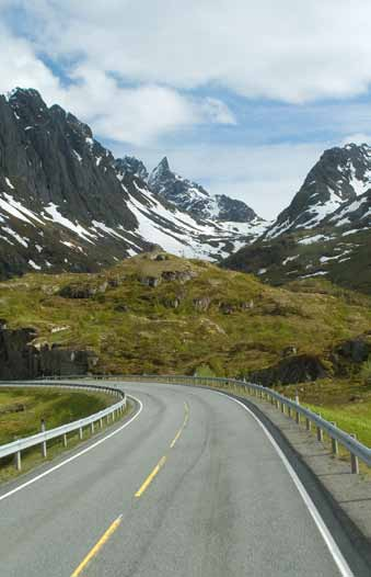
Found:
[{"label": "curving metal guardrail on the left side of the road", "polygon": [[[100,423],[100,427],[103,427],[103,419],[106,418],[107,422],[109,422],[109,419],[113,421],[116,417],[118,417],[120,414],[124,412],[124,409],[126,408],[126,394],[124,391],[117,387],[109,387],[109,386],[102,386],[102,385],[84,385],[82,383],[79,384],[56,384],[55,380],[53,383],[35,383],[35,382],[19,382],[19,383],[5,383],[1,382],[0,387],[60,387],[60,388],[73,388],[77,389],[83,389],[83,391],[98,391],[100,393],[106,393],[114,395],[116,397],[119,397],[119,401],[111,405],[109,407],[100,410],[98,412],[95,412],[94,415],[91,415],[90,417],[84,417],[83,419],[76,420],[73,422],[69,422],[67,425],[61,425],[60,427],[56,427],[55,429],[45,430],[43,429],[42,432],[32,434],[30,437],[25,437],[23,439],[18,439],[16,441],[12,441],[10,443],[0,445],[0,459],[15,455],[15,467],[18,471],[21,471],[22,468],[22,461],[21,461],[21,453],[25,449],[30,449],[32,446],[40,445],[42,448],[42,454],[44,457],[47,456],[47,445],[46,442],[50,441],[51,439],[56,439],[58,437],[62,437],[63,444],[67,446],[67,434],[70,432],[79,431],[80,440],[83,438],[83,428],[90,427],[91,432],[93,433],[95,430],[95,423]],[[42,426],[43,427],[43,426]]]}]

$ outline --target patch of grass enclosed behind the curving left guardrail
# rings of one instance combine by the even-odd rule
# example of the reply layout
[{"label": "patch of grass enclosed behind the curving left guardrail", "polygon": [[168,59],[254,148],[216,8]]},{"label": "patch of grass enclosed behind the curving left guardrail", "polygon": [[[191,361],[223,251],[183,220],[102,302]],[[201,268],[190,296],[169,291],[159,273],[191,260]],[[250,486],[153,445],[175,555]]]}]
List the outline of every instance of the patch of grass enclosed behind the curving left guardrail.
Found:
[{"label": "patch of grass enclosed behind the curving left guardrail", "polygon": [[[0,388],[0,444],[88,417],[112,404],[108,395],[55,388]],[[24,410],[18,411],[22,405]]]}]

